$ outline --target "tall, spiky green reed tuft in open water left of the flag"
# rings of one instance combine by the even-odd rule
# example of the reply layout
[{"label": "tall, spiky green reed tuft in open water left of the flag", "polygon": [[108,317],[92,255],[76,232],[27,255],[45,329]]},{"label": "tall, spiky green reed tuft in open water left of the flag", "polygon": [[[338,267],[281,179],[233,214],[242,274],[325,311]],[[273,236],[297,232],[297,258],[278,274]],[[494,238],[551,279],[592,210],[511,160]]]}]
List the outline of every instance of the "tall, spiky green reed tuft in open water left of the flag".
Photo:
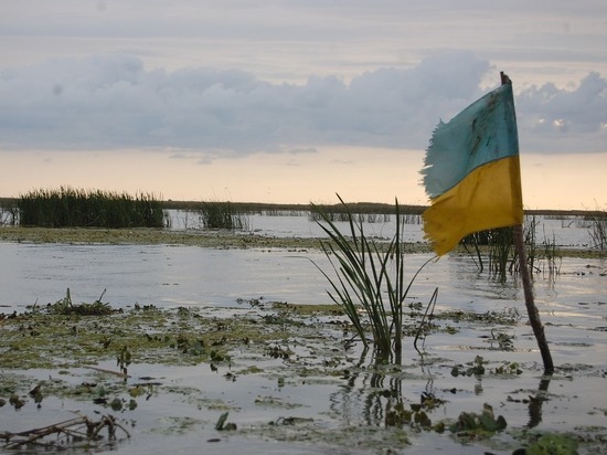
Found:
[{"label": "tall, spiky green reed tuft in open water left of the flag", "polygon": [[330,239],[329,242],[320,243],[336,278],[331,278],[318,265],[317,268],[331,285],[329,297],[343,308],[364,346],[368,347],[369,341],[366,324],[359,311],[361,308],[369,319],[377,358],[387,359],[393,355],[398,362],[403,349],[403,304],[413,282],[432,260],[405,283],[403,219],[400,216],[398,201],[396,233],[391,242],[379,244],[364,234],[363,223],[356,220],[339,194],[338,198],[347,215],[349,237],[340,232],[331,215],[312,204],[312,210],[322,220],[319,222],[320,228]]}]

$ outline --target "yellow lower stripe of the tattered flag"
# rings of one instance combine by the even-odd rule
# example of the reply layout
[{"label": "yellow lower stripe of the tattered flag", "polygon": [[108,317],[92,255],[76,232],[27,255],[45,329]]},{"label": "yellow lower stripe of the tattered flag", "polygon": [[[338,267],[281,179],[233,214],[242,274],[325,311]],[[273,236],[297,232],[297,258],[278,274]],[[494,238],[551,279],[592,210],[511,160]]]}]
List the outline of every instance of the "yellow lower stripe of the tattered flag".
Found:
[{"label": "yellow lower stripe of the tattered flag", "polygon": [[458,184],[434,198],[424,212],[425,237],[443,255],[466,235],[523,222],[519,156],[475,169]]}]

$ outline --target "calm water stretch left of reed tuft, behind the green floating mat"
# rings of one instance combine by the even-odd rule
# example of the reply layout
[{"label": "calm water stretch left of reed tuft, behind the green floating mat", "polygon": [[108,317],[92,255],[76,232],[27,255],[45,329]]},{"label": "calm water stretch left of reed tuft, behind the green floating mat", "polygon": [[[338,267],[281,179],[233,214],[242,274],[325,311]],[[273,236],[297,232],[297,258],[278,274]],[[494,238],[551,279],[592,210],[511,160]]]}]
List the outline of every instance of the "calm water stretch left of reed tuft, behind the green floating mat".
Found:
[{"label": "calm water stretch left of reed tuft, behind the green floating mat", "polygon": [[0,244],[0,305],[22,310],[54,303],[71,289],[74,303],[119,307],[234,305],[238,298],[319,303],[322,279],[307,260],[319,253],[212,250],[166,245]]}]

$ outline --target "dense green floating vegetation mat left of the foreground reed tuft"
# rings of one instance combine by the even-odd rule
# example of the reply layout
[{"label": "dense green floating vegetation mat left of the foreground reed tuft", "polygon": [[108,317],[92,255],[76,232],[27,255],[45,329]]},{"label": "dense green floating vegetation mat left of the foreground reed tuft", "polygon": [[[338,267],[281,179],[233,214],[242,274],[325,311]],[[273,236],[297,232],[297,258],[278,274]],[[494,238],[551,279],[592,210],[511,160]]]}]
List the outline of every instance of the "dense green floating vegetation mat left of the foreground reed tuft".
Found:
[{"label": "dense green floating vegetation mat left of the foreground reed tuft", "polygon": [[[94,304],[73,305],[67,290],[55,304],[3,318],[2,367],[65,368],[117,359],[124,372],[135,361],[219,364],[230,360],[231,349],[249,341],[281,340],[291,328],[286,317],[262,327],[244,313],[223,319],[201,317],[199,310],[184,307],[161,310],[136,305],[123,310],[102,303],[102,297]],[[285,311],[279,307],[276,314]]]}]

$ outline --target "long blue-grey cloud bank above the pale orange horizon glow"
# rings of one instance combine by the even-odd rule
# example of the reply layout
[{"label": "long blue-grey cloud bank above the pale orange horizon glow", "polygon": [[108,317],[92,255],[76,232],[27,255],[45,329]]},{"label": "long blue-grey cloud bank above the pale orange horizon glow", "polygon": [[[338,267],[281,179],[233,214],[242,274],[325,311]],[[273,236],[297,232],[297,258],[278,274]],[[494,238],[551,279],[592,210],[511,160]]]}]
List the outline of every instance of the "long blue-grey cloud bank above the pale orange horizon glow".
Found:
[{"label": "long blue-grey cloud bank above the pale orange horizon glow", "polygon": [[[146,68],[127,54],[55,59],[0,73],[3,149],[161,148],[238,157],[316,146],[417,148],[479,97],[492,71],[470,52],[353,77],[269,83],[238,70]],[[607,82],[517,96],[528,151],[605,151]],[[523,148],[523,145],[522,145]]]}]

